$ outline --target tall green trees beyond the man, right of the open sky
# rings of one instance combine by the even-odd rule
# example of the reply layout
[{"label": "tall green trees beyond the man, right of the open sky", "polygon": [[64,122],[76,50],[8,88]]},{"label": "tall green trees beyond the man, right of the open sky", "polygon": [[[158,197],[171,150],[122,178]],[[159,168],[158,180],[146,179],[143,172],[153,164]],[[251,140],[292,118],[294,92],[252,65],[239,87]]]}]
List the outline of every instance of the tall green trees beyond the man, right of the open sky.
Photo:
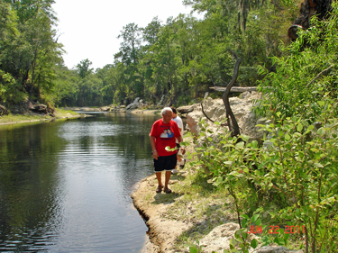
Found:
[{"label": "tall green trees beyond the man, right of the open sky", "polygon": [[180,14],[165,24],[154,18],[145,28],[135,23],[123,26],[118,37],[122,40],[120,51],[114,56],[105,86],[114,94],[115,104],[130,103],[137,96],[155,104],[166,95],[169,104],[176,105],[203,97],[209,86],[224,86],[232,78],[229,49],[243,62],[238,82],[253,86],[260,78],[257,66],[270,67],[269,57],[279,55],[278,41],[286,41],[285,27],[280,23],[288,23],[283,20],[286,11],[282,8],[249,2],[241,9],[244,30],[238,23],[239,1],[187,4],[192,2],[196,11],[206,11],[205,19]]}]

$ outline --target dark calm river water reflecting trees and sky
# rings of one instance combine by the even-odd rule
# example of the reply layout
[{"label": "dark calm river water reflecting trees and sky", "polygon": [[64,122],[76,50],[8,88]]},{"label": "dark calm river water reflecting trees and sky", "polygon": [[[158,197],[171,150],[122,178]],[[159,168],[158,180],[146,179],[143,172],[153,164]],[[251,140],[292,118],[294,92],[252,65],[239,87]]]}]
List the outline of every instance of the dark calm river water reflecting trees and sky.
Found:
[{"label": "dark calm river water reflecting trees and sky", "polygon": [[0,126],[0,251],[140,252],[133,185],[153,173],[159,116]]}]

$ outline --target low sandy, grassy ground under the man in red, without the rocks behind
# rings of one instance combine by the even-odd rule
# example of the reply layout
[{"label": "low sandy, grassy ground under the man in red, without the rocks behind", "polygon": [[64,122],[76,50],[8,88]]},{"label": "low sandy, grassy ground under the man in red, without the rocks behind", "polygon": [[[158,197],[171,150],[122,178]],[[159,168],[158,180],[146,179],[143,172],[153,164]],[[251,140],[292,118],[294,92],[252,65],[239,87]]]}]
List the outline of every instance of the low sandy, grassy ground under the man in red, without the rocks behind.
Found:
[{"label": "low sandy, grassy ground under the man in red, without the rocks behind", "polygon": [[[189,252],[189,247],[223,252],[229,248],[234,231],[239,229],[235,215],[227,207],[231,199],[211,184],[199,185],[203,180],[196,175],[189,165],[172,175],[172,194],[155,192],[155,175],[135,186],[132,200],[149,228],[142,253]],[[164,173],[162,177],[163,182]]]}]

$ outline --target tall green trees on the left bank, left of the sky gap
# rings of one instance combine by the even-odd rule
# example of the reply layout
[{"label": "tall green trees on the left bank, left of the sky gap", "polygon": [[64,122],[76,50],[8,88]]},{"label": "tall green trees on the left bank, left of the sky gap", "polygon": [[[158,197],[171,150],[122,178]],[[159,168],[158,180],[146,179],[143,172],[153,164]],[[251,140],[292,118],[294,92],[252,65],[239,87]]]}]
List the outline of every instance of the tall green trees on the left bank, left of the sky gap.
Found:
[{"label": "tall green trees on the left bank, left of the sky gap", "polygon": [[[10,92],[1,95],[0,100],[17,103],[27,96],[42,101],[50,97],[55,80],[53,67],[60,60],[61,49],[52,29],[55,22],[52,3],[52,0],[0,2],[0,69],[6,75],[2,75],[3,90]],[[14,80],[9,82],[8,78]]]}]

